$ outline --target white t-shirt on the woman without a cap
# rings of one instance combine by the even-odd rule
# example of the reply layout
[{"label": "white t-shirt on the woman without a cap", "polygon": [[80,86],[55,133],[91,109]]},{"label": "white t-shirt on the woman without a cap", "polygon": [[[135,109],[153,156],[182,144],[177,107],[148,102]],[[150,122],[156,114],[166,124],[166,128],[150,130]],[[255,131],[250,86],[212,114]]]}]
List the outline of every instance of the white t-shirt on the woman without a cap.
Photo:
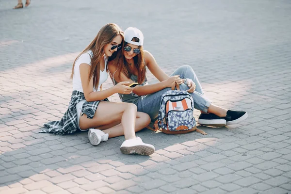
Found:
[{"label": "white t-shirt on the woman without a cap", "polygon": [[[80,65],[81,64],[88,64],[91,65],[91,57],[93,57],[93,52],[89,50],[88,52],[85,52],[81,54],[81,56],[77,59],[74,67],[74,75],[73,75],[73,90],[77,90],[79,92],[83,93],[82,88],[82,82],[81,82],[81,75],[80,75]],[[99,84],[98,89],[93,89],[94,92],[100,91],[100,86],[102,83],[104,83],[107,80],[107,59],[104,56],[105,61],[105,68],[104,71],[101,71],[100,69],[100,78],[99,78]]]}]

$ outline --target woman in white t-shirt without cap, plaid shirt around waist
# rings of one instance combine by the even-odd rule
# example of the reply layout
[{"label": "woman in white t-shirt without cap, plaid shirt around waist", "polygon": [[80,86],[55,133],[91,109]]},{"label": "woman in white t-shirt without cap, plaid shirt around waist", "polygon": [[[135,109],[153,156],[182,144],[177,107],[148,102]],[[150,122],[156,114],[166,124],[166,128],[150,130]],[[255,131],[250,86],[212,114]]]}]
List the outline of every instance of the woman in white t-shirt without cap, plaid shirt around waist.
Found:
[{"label": "woman in white t-shirt without cap, plaid shirt around waist", "polygon": [[68,134],[77,129],[89,130],[88,138],[92,145],[124,135],[126,141],[120,147],[122,153],[151,155],[155,151],[154,146],[135,136],[135,131],[149,124],[149,116],[137,113],[137,107],[132,103],[109,102],[107,99],[114,93],[132,93],[133,88],[125,85],[129,82],[100,90],[107,80],[108,57],[121,49],[123,41],[123,32],[116,24],[109,23],[101,28],[73,64],[73,93],[68,110],[61,121],[45,124],[47,129],[40,132]]}]

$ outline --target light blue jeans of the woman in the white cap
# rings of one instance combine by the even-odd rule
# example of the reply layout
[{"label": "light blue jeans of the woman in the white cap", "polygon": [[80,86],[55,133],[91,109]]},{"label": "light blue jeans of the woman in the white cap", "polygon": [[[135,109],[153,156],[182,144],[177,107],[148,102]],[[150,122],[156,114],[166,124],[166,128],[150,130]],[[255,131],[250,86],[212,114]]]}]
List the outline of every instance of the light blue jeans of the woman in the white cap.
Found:
[{"label": "light blue jeans of the woman in the white cap", "polygon": [[[194,93],[190,93],[194,100],[194,108],[207,113],[211,101],[203,96],[203,89],[192,67],[189,65],[180,66],[171,76],[174,75],[180,75],[181,79],[188,78],[195,82],[196,89]],[[182,83],[180,85],[180,90],[188,89],[189,87],[186,84]],[[171,90],[171,88],[164,88],[159,92],[141,97],[136,104],[137,111],[147,113],[150,118],[154,120],[159,114],[161,97],[169,90]]]}]

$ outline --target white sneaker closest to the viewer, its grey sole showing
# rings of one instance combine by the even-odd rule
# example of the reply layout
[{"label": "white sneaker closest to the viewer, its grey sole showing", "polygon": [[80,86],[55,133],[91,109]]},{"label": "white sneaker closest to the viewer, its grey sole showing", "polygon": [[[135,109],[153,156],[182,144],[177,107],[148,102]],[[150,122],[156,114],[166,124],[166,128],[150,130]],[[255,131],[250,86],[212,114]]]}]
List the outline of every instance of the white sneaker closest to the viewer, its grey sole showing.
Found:
[{"label": "white sneaker closest to the viewer, its grey sole showing", "polygon": [[136,137],[124,141],[120,146],[120,151],[123,154],[138,154],[149,156],[155,152],[155,147],[150,144],[143,143],[141,138]]}]

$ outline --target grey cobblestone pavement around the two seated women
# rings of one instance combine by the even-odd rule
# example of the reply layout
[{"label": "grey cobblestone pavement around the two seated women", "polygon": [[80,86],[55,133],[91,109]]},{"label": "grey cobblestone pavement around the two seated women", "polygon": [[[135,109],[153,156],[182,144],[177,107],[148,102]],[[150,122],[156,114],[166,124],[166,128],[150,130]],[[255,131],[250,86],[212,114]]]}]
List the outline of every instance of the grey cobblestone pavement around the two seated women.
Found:
[{"label": "grey cobblestone pavement around the two seated women", "polygon": [[[0,0],[0,194],[291,191],[291,1],[15,5]],[[38,133],[65,113],[73,60],[109,22],[141,29],[163,70],[191,65],[207,97],[249,118],[228,129],[199,127],[206,136],[144,129],[137,135],[156,147],[149,157],[121,154],[124,137],[91,146],[86,132]]]}]

